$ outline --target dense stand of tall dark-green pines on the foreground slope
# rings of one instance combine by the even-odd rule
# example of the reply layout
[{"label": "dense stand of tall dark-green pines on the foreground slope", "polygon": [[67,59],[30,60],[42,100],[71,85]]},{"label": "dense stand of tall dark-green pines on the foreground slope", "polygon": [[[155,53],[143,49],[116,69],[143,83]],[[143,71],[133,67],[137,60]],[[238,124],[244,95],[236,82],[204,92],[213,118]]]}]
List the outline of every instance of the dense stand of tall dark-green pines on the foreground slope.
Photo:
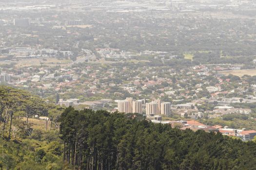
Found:
[{"label": "dense stand of tall dark-green pines on the foreground slope", "polygon": [[60,118],[64,160],[82,170],[254,170],[256,144],[139,115],[67,108]]}]

